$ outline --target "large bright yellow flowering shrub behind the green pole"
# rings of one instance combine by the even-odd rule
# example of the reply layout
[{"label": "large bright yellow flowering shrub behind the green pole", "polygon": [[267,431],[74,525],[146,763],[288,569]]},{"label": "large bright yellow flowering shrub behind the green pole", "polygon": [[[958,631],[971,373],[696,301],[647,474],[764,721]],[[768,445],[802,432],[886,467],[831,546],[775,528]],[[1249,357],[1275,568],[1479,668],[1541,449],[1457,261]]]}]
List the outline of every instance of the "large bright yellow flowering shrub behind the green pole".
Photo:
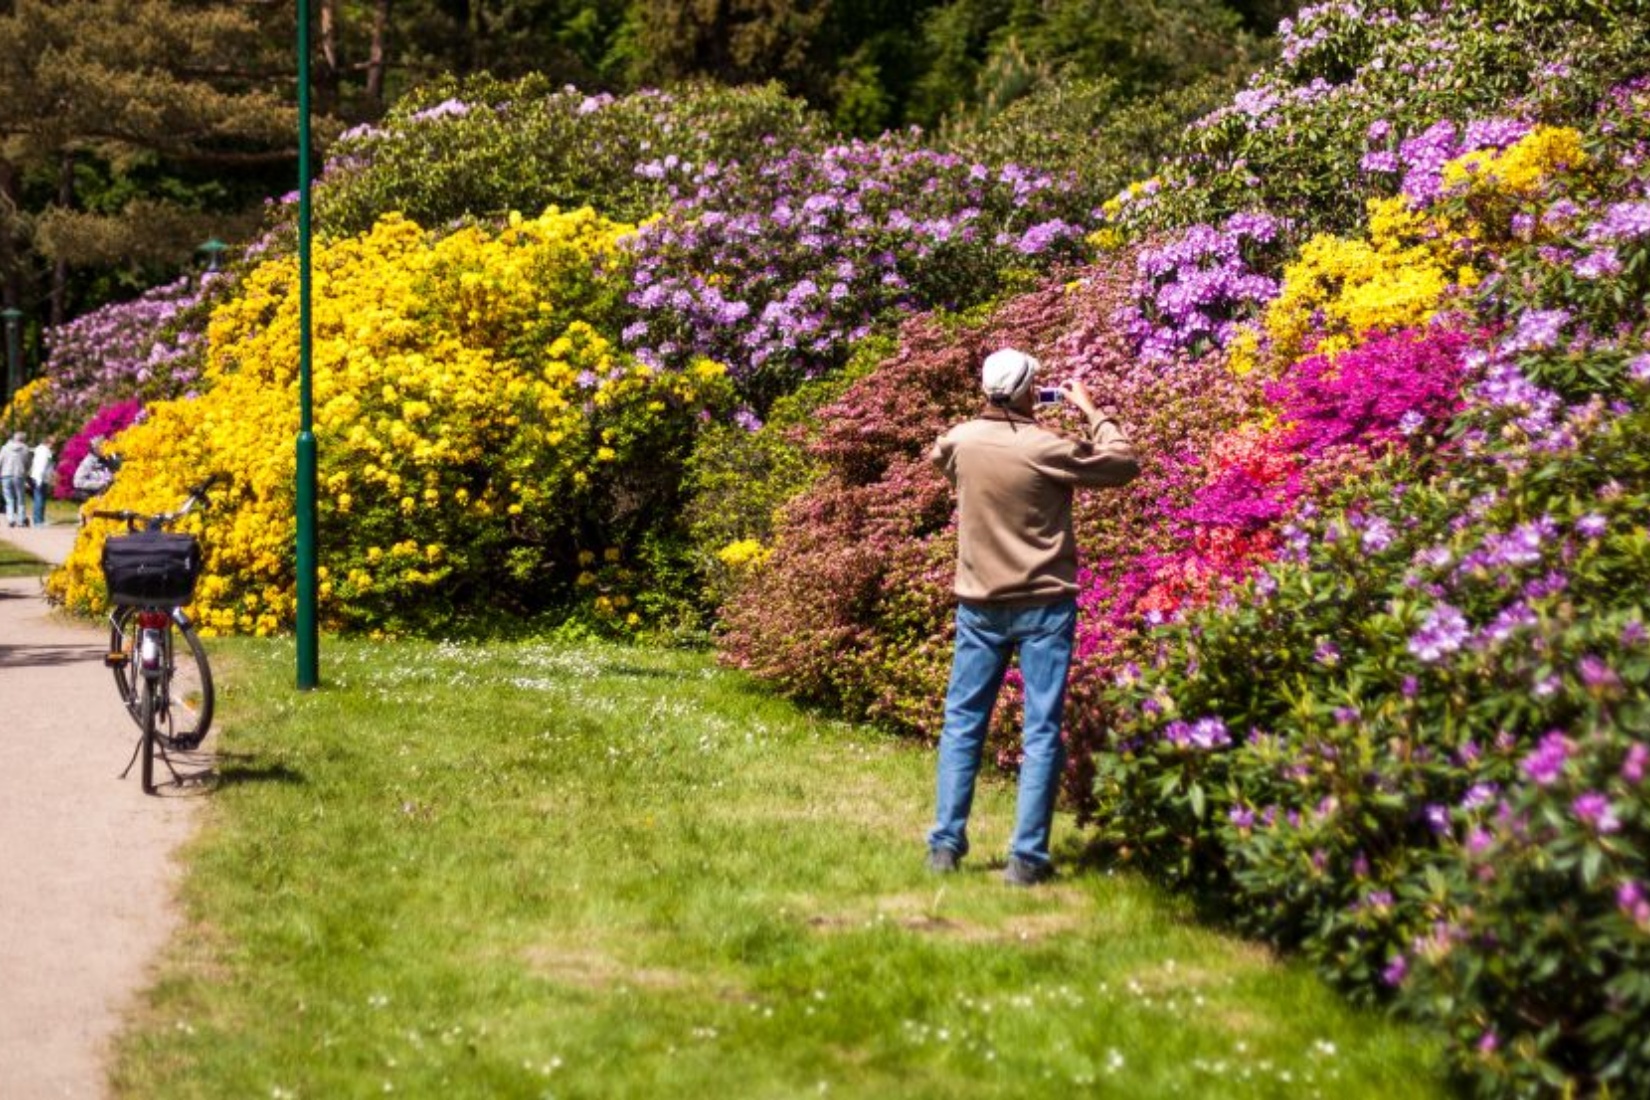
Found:
[{"label": "large bright yellow flowering shrub behind the green pole", "polygon": [[[576,590],[584,546],[619,546],[655,508],[723,371],[662,374],[604,330],[629,226],[589,209],[436,236],[399,216],[314,259],[314,429],[323,622],[414,630]],[[604,275],[602,272],[609,272]],[[213,632],[294,617],[297,266],[256,269],[208,328],[206,389],[157,402],[116,440],[107,508],[163,510],[231,477],[205,521],[193,612]],[[198,524],[196,524],[198,526]],[[106,524],[51,592],[104,599]]]}]

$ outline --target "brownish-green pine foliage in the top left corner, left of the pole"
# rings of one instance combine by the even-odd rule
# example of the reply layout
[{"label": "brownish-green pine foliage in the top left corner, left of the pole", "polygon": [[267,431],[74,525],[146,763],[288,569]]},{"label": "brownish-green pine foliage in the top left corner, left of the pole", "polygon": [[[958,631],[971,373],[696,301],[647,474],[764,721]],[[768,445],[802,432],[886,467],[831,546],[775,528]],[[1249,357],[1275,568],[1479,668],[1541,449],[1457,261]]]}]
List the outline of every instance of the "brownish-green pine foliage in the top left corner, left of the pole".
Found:
[{"label": "brownish-green pine foliage in the top left corner, left of the pole", "polygon": [[290,68],[259,23],[277,15],[186,0],[0,8],[7,307],[61,323],[97,303],[73,270],[97,272],[106,297],[150,285],[256,221],[241,211],[294,157]]}]

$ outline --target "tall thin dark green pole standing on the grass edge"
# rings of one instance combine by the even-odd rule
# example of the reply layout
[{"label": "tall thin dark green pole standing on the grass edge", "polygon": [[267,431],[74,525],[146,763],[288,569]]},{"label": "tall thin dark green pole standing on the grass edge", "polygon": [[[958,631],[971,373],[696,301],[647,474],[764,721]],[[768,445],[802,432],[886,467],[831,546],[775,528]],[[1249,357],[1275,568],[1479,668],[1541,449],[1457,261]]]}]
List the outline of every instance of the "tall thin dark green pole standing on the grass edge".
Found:
[{"label": "tall thin dark green pole standing on the grass edge", "polygon": [[299,691],[320,684],[315,617],[315,430],[310,422],[310,132],[309,8],[299,0],[299,440],[297,440],[297,650]]}]

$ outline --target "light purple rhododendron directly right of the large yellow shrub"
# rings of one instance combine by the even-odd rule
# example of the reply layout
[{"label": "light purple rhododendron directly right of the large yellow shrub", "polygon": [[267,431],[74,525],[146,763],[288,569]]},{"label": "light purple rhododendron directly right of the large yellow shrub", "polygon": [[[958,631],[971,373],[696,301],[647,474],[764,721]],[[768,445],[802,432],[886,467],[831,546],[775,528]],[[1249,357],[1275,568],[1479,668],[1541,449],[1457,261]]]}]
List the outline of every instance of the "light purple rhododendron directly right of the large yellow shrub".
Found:
[{"label": "light purple rhododendron directly right of the large yellow shrub", "polygon": [[632,241],[625,341],[662,366],[726,363],[759,406],[838,368],[878,322],[978,305],[1074,257],[1087,213],[1072,178],[901,135],[658,172],[680,176],[676,201]]}]

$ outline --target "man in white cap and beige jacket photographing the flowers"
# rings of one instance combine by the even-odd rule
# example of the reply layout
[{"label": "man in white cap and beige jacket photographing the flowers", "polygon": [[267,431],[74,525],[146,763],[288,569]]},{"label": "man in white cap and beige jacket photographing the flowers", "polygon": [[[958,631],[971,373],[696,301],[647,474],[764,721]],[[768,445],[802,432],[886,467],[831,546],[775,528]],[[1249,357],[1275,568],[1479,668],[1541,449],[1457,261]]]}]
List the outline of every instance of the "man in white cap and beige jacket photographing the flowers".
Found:
[{"label": "man in white cap and beige jacket photographing the flowers", "polygon": [[1124,485],[1140,472],[1110,412],[1077,379],[1048,391],[1087,419],[1086,439],[1038,425],[1040,363],[1013,348],[985,358],[987,406],[934,444],[931,458],[957,488],[957,642],[939,739],[937,808],[927,866],[955,871],[969,853],[969,810],[980,754],[1008,660],[1025,679],[1023,760],[1003,881],[1035,886],[1054,874],[1049,833],[1066,764],[1059,727],[1077,628],[1072,491]]}]

